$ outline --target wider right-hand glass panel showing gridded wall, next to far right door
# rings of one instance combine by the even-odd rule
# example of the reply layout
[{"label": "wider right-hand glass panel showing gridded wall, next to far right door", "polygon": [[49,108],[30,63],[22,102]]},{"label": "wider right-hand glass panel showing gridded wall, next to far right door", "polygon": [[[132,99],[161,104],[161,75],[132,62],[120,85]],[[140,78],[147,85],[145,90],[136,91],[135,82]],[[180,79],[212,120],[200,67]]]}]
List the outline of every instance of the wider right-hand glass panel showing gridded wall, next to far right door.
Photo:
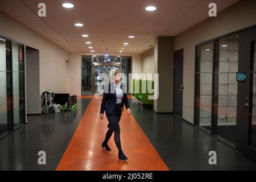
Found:
[{"label": "wider right-hand glass panel showing gridded wall, next to far right door", "polygon": [[220,40],[218,74],[218,135],[236,143],[239,36]]}]

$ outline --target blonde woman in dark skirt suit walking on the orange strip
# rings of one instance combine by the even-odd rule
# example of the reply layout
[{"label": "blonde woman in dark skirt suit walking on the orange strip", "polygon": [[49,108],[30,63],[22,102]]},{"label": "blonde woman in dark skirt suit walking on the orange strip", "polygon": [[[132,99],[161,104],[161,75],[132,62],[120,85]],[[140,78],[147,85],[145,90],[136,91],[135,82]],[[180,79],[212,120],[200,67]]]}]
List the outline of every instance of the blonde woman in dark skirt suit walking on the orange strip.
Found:
[{"label": "blonde woman in dark skirt suit walking on the orange strip", "polygon": [[108,141],[114,133],[115,145],[118,148],[118,158],[121,160],[127,160],[128,158],[123,154],[120,140],[120,127],[119,121],[122,115],[123,104],[125,105],[128,115],[131,114],[129,102],[127,99],[127,93],[125,86],[121,84],[122,73],[115,69],[113,71],[113,82],[107,85],[104,89],[104,94],[101,103],[100,118],[103,119],[104,111],[109,121],[109,130],[106,133],[106,138],[101,147],[105,147],[106,150],[111,151],[108,146]]}]

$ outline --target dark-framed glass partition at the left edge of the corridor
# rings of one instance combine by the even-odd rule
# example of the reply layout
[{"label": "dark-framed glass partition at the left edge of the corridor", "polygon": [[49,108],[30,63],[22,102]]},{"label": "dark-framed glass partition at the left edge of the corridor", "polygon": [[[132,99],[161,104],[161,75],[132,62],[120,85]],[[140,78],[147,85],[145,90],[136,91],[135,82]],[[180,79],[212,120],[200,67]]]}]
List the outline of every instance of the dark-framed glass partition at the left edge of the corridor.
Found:
[{"label": "dark-framed glass partition at the left edge of the corridor", "polygon": [[25,123],[24,46],[0,38],[0,137]]}]

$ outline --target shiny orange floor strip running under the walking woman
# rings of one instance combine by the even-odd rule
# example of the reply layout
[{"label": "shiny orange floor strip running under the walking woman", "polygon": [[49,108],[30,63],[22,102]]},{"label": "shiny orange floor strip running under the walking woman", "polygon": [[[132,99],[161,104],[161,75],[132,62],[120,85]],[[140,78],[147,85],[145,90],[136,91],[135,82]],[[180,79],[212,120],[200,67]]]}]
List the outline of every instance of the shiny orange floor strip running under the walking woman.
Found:
[{"label": "shiny orange floor strip running under the walking woman", "polygon": [[121,121],[122,149],[128,162],[118,160],[113,136],[109,141],[112,151],[101,148],[108,121],[99,117],[102,96],[93,96],[84,117],[77,127],[57,170],[168,170],[133,115],[124,110]]}]

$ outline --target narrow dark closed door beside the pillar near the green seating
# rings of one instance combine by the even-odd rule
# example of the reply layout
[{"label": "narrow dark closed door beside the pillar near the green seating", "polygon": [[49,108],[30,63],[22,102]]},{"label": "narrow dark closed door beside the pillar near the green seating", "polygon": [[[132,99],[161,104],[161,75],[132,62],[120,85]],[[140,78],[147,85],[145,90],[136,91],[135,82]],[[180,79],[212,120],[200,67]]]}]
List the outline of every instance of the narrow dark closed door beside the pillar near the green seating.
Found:
[{"label": "narrow dark closed door beside the pillar near the green seating", "polygon": [[174,52],[174,114],[182,118],[183,108],[183,49]]}]

